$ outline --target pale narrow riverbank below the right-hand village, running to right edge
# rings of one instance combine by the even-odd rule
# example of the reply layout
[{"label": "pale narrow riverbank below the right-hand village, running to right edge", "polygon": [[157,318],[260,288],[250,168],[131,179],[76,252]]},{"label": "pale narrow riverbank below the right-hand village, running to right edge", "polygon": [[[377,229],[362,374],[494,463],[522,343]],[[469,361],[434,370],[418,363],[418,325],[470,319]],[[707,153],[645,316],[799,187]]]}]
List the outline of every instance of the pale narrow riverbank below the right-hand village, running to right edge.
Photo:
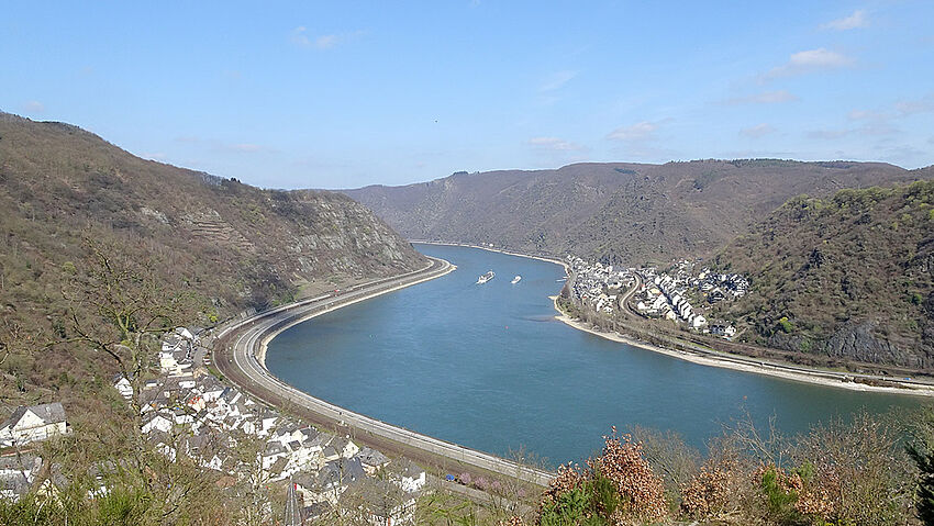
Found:
[{"label": "pale narrow riverbank below the right-hand village, running to right edge", "polygon": [[[666,349],[664,347],[658,347],[656,345],[648,344],[646,342],[636,340],[634,338],[630,338],[623,336],[620,333],[605,333],[602,331],[598,331],[592,327],[588,327],[579,320],[575,320],[564,311],[558,307],[558,296],[549,296],[552,302],[555,305],[555,311],[558,312],[558,315],[555,316],[555,320],[558,320],[566,325],[574,327],[578,331],[583,331],[586,333],[590,333],[594,336],[599,336],[604,339],[609,339],[611,342],[618,342],[620,344],[631,345],[633,347],[638,347],[641,349],[651,350],[653,352],[658,352],[665,356],[669,356],[671,358],[677,358],[679,360],[690,361],[692,363],[698,363],[701,366],[709,367],[719,367],[722,369],[732,369],[735,371],[742,372],[752,372],[755,374],[765,374],[768,377],[781,378],[785,380],[791,380],[796,382],[804,382],[804,383],[813,383],[823,387],[838,388],[838,389],[848,389],[852,391],[864,391],[864,392],[878,392],[878,393],[890,393],[890,394],[912,394],[918,396],[934,396],[934,385],[924,387],[918,384],[905,384],[900,383],[896,379],[887,379],[887,381],[899,383],[900,388],[894,387],[885,387],[885,385],[869,385],[866,383],[859,383],[854,381],[846,381],[843,378],[836,378],[835,376],[831,376],[830,371],[822,371],[820,369],[808,369],[798,366],[790,366],[785,363],[771,363],[769,361],[759,360],[758,363],[753,362],[752,360],[745,360],[742,357],[716,357],[712,355],[700,355],[697,352],[691,352],[687,350],[672,350]],[[780,367],[780,369],[779,369]],[[796,370],[789,370],[790,367],[794,367]]]}]

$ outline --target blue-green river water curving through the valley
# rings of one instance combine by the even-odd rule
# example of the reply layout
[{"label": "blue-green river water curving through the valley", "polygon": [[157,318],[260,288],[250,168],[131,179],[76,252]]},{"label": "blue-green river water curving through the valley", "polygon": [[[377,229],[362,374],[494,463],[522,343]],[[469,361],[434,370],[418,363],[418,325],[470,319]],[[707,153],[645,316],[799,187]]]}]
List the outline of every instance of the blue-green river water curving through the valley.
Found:
[{"label": "blue-green river water curving through the valley", "polygon": [[[615,425],[677,432],[703,448],[745,412],[786,434],[836,415],[921,403],[699,366],[554,318],[557,265],[415,245],[447,276],[312,318],[270,344],[269,370],[309,394],[475,449],[582,460]],[[496,278],[476,284],[487,270]],[[510,284],[516,275],[522,280]]]}]

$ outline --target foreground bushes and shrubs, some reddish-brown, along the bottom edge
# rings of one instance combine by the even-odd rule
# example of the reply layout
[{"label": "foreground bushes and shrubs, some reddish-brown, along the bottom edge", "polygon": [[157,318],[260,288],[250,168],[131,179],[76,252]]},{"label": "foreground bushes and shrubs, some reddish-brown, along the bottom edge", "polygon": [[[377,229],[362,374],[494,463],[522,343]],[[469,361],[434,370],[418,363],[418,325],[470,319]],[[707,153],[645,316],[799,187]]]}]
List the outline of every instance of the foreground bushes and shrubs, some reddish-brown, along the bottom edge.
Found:
[{"label": "foreground bushes and shrubs, some reddish-brown, along the bottom edge", "polygon": [[[281,517],[281,488],[252,486],[247,477],[223,483],[215,472],[152,450],[134,459],[127,437],[136,432],[114,422],[108,416],[46,444],[48,483],[18,503],[0,502],[0,524],[269,524]],[[541,494],[503,480],[478,504],[441,488],[421,497],[412,523],[934,524],[930,409],[859,413],[797,437],[747,417],[725,427],[707,455],[671,433],[630,432],[613,429],[599,455],[561,466]],[[310,524],[368,524],[362,510],[349,506]]]}]

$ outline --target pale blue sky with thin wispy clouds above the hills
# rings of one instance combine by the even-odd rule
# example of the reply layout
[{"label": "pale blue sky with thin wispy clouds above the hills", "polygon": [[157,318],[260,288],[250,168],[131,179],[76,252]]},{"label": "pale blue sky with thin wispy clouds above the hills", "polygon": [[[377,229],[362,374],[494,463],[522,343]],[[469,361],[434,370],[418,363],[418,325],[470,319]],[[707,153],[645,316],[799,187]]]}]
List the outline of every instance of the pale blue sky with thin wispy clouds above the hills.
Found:
[{"label": "pale blue sky with thin wispy clouds above the hills", "polygon": [[0,110],[274,188],[934,164],[934,2],[3,2]]}]

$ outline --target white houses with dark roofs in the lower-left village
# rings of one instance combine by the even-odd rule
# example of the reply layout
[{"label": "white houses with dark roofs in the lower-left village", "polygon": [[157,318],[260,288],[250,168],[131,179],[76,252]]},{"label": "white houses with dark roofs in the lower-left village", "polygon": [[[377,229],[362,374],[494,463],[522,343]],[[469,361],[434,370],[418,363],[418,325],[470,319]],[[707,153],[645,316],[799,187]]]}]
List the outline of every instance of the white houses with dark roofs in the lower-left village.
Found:
[{"label": "white houses with dark roofs in the lower-left village", "polygon": [[[162,342],[160,374],[141,382],[142,433],[155,450],[173,461],[189,457],[218,472],[219,483],[226,481],[231,489],[245,478],[257,488],[280,488],[287,495],[287,514],[292,515],[286,524],[302,524],[348,506],[365,508],[373,524],[411,521],[425,488],[422,468],[256,402],[196,365],[196,356],[203,352],[193,331],[178,328]],[[118,376],[112,385],[127,403],[133,400],[130,379]],[[37,477],[42,457],[30,452],[40,449],[30,446],[70,432],[57,402],[21,406],[0,425],[0,448],[16,451],[0,457],[0,499],[15,501],[36,484],[54,494],[55,481]],[[97,492],[107,491],[101,478]]]}]

